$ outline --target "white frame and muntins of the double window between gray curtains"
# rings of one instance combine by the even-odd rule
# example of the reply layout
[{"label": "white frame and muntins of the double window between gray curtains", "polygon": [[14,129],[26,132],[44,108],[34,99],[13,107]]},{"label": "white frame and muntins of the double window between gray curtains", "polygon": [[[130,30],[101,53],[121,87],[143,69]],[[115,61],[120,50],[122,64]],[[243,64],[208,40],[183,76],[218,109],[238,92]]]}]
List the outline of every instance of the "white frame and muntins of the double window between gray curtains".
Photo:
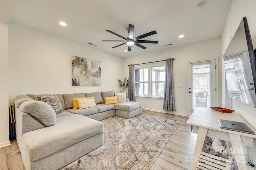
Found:
[{"label": "white frame and muntins of the double window between gray curtains", "polygon": [[[159,62],[159,63],[153,63],[153,64],[146,64],[146,65],[139,65],[139,66],[135,66],[134,67],[134,78],[136,78],[136,74],[135,74],[135,70],[137,69],[143,69],[143,68],[147,68],[148,69],[148,81],[147,82],[142,82],[142,81],[139,81],[139,82],[135,82],[136,83],[148,83],[148,96],[138,96],[136,95],[136,97],[143,97],[143,98],[160,98],[160,99],[164,99],[164,96],[163,97],[154,97],[152,96],[152,86],[153,86],[153,83],[165,83],[165,81],[152,81],[152,70],[154,67],[159,67],[159,66],[166,66],[165,64],[165,61],[164,62]],[[144,75],[146,76],[146,75]],[[136,86],[135,86],[136,88]],[[135,89],[136,90],[136,89]],[[143,88],[144,90],[144,88]]]}]

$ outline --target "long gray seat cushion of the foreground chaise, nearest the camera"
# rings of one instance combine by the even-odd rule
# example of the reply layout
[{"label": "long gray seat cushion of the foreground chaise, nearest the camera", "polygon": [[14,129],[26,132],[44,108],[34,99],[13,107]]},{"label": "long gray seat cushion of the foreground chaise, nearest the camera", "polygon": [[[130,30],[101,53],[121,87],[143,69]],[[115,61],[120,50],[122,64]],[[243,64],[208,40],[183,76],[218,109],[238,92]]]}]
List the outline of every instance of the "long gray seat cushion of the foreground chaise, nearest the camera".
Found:
[{"label": "long gray seat cushion of the foreground chaise, nearest the camera", "polygon": [[24,156],[34,162],[103,131],[103,123],[89,117],[74,114],[60,117],[55,126],[22,136],[22,148],[28,151]]}]

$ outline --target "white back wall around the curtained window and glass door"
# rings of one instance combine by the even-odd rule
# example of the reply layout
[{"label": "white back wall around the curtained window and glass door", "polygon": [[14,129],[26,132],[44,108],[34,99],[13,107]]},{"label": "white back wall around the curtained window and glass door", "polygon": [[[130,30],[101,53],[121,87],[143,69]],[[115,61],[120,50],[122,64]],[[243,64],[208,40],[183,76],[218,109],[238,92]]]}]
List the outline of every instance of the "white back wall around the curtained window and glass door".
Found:
[{"label": "white back wall around the curtained window and glass door", "polygon": [[[184,39],[186,41],[186,39]],[[164,47],[163,47],[164,48]],[[167,58],[175,58],[174,60],[174,95],[176,103],[176,112],[164,111],[163,99],[136,97],[136,101],[142,103],[144,109],[160,111],[164,113],[172,113],[178,115],[187,115],[186,108],[186,65],[190,61],[201,61],[221,57],[221,39],[213,39],[210,41],[194,43],[183,47],[176,47],[169,50],[158,51],[156,53],[148,53],[135,57],[124,59],[124,76],[128,77],[129,64],[140,64],[152,61],[161,61]],[[219,65],[217,63],[217,65]],[[177,85],[182,84],[183,88]],[[219,90],[221,92],[221,89]],[[180,108],[183,105],[183,108]]]}]

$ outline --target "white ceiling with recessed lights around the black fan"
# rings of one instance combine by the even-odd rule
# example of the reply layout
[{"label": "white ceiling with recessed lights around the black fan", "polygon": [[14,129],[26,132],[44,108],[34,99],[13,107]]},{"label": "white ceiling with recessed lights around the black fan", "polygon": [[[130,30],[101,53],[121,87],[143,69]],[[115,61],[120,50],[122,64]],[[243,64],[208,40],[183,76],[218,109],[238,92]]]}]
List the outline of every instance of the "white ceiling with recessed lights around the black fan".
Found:
[{"label": "white ceiling with recessed lights around the black fan", "polygon": [[[206,7],[198,10],[201,2],[206,2]],[[10,21],[106,53],[131,57],[221,37],[230,4],[231,0],[15,0]],[[63,27],[60,21],[68,25]],[[123,40],[106,29],[128,37],[129,23],[134,25],[134,37],[156,30],[157,34],[143,40],[158,44],[141,43],[147,49],[134,45],[132,51],[124,52],[126,44],[112,49],[122,42],[102,42]],[[185,37],[178,38],[181,34]]]}]

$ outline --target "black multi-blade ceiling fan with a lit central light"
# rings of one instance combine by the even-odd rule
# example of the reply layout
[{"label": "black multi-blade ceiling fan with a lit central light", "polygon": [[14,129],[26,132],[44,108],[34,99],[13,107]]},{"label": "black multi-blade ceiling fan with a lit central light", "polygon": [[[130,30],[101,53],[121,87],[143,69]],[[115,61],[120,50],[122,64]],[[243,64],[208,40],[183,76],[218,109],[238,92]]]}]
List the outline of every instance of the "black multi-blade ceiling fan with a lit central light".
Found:
[{"label": "black multi-blade ceiling fan with a lit central light", "polygon": [[142,49],[146,49],[147,47],[139,44],[139,43],[151,43],[151,44],[157,44],[158,41],[148,41],[148,40],[140,40],[142,38],[145,38],[145,37],[148,37],[150,35],[154,35],[156,34],[156,31],[151,31],[149,33],[145,33],[143,35],[140,35],[138,37],[133,37],[133,29],[134,29],[134,25],[132,24],[129,24],[129,29],[128,29],[128,37],[125,38],[123,37],[122,35],[119,35],[117,33],[114,33],[113,31],[110,31],[110,30],[106,30],[114,35],[117,35],[118,37],[121,37],[122,39],[125,39],[125,40],[102,40],[102,41],[125,41],[124,43],[120,44],[120,45],[117,45],[115,47],[112,47],[112,48],[116,48],[116,47],[119,47],[121,45],[124,45],[124,44],[127,44],[128,45],[128,51],[131,51],[132,49],[132,45],[136,45]]}]

